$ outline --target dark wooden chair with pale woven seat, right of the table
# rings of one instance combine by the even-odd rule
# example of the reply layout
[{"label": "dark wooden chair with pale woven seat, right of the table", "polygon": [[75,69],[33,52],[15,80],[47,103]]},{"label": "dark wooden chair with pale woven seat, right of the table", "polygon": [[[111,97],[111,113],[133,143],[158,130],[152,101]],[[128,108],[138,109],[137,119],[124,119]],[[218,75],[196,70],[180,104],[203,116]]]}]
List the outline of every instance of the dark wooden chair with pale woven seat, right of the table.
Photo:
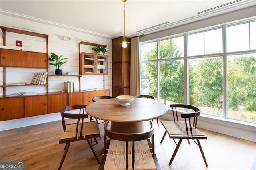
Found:
[{"label": "dark wooden chair with pale woven seat, right of the table", "polygon": [[[168,133],[169,138],[171,139],[180,139],[178,144],[174,140],[176,144],[176,148],[172,154],[172,158],[169,162],[169,165],[172,164],[172,161],[174,160],[174,157],[176,156],[176,153],[178,152],[178,149],[180,147],[180,144],[182,142],[182,139],[187,139],[189,142],[189,139],[192,139],[199,147],[200,152],[202,154],[202,157],[204,159],[204,163],[206,166],[208,166],[206,162],[206,158],[204,156],[204,152],[202,149],[202,146],[200,144],[200,139],[207,139],[204,134],[202,134],[197,128],[197,117],[200,115],[200,109],[198,107],[195,107],[193,105],[185,105],[185,104],[171,104],[170,108],[172,108],[172,114],[174,121],[161,121],[162,125],[165,128],[164,136],[162,137],[162,140],[160,143],[163,142],[164,137]],[[181,112],[181,118],[184,118],[184,121],[178,120],[178,111]],[[190,121],[190,119],[193,119],[193,122]],[[196,140],[196,141],[195,141]],[[190,142],[189,142],[190,144]]]}]

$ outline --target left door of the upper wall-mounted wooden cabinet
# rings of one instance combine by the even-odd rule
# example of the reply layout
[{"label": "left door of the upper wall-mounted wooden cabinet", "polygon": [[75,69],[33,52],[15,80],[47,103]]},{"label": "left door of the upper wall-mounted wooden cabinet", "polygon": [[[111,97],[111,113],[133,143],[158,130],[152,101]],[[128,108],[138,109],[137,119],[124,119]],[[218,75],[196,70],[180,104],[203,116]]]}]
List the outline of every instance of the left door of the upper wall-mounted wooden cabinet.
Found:
[{"label": "left door of the upper wall-mounted wooden cabinet", "polygon": [[26,67],[26,52],[13,49],[1,49],[0,61],[2,67]]}]

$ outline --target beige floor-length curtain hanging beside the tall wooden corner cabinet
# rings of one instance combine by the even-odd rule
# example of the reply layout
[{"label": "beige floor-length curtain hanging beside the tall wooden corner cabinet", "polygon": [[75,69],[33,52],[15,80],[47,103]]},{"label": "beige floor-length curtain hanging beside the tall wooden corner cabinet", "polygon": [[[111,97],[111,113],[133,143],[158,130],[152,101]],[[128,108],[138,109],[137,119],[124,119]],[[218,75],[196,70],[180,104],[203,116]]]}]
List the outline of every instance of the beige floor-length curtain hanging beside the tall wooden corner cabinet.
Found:
[{"label": "beige floor-length curtain hanging beside the tall wooden corner cabinet", "polygon": [[132,96],[140,95],[139,37],[131,39],[131,89]]}]

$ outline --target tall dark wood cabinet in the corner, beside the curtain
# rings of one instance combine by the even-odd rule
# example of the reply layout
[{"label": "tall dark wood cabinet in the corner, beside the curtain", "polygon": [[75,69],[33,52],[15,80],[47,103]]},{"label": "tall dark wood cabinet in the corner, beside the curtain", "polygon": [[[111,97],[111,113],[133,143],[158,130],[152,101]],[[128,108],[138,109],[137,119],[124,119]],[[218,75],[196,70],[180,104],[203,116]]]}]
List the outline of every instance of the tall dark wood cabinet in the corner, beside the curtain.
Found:
[{"label": "tall dark wood cabinet in the corner, beside the curtain", "polygon": [[[123,37],[112,40],[112,96],[130,95],[130,44],[120,45]],[[129,38],[126,41],[130,42]]]}]

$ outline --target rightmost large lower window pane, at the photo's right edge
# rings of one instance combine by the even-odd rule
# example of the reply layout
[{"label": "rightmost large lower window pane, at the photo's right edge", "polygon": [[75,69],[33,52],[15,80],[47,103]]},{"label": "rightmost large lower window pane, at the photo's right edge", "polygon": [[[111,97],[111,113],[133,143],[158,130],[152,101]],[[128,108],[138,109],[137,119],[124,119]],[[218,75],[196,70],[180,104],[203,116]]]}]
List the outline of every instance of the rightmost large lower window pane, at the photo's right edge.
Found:
[{"label": "rightmost large lower window pane, at the photo's right edge", "polygon": [[228,117],[256,121],[256,53],[227,60]]}]

